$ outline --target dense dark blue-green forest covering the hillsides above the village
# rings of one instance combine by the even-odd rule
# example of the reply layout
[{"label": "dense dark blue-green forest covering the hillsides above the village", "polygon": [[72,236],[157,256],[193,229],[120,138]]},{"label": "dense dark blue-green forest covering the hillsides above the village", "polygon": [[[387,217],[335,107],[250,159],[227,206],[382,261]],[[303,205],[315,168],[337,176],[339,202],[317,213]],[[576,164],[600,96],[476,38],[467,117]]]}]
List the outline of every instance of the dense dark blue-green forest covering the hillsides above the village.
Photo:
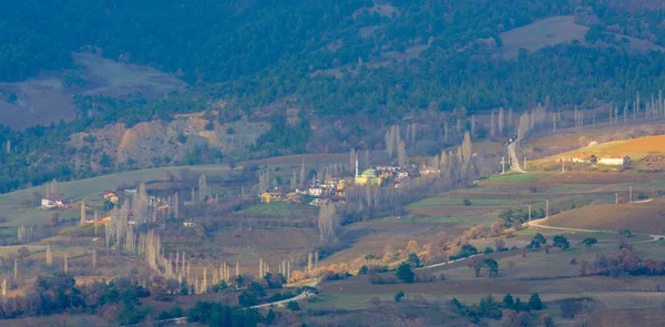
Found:
[{"label": "dense dark blue-green forest covering the hillsides above the village", "polygon": [[[665,45],[665,10],[649,1],[472,0],[390,1],[14,1],[0,12],[0,81],[76,69],[72,52],[151,65],[190,84],[146,100],[75,96],[76,120],[25,131],[0,129],[12,143],[0,154],[0,192],[53,177],[71,177],[71,163],[42,159],[75,132],[123,122],[133,125],[174,113],[208,110],[224,100],[219,121],[266,106],[305,110],[285,125],[285,110],[264,117],[274,126],[257,144],[266,154],[303,153],[316,137],[307,122],[332,117],[371,124],[369,136],[420,110],[483,113],[523,110],[550,99],[556,106],[632,101],[665,86],[665,55],[632,51],[617,33]],[[582,40],[498,55],[500,34],[534,21],[574,16],[590,27]],[[417,50],[417,51],[416,51]],[[413,54],[416,53],[416,54]],[[12,94],[2,94],[7,101]],[[14,95],[16,96],[16,95]],[[98,114],[85,114],[92,106]],[[284,108],[282,108],[284,109]],[[277,126],[277,127],[276,127]],[[269,144],[264,144],[268,142]],[[371,142],[370,142],[371,143]],[[348,151],[352,144],[347,144]],[[317,147],[320,149],[320,147]],[[40,162],[40,165],[34,165]],[[205,159],[202,160],[205,162]],[[111,170],[111,167],[108,167]],[[115,167],[117,168],[117,167]],[[83,177],[93,172],[75,172]]]}]

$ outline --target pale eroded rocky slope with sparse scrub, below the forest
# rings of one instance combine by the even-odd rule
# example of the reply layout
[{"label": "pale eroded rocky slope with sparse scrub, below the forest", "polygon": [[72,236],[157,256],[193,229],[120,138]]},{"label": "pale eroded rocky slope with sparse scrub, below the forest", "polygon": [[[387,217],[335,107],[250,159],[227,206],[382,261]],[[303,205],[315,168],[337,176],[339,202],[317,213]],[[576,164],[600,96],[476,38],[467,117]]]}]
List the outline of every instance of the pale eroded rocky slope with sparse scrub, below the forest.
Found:
[{"label": "pale eroded rocky slope with sparse scrub, below the forest", "polygon": [[171,122],[143,122],[131,127],[121,123],[108,125],[73,134],[68,145],[76,149],[73,160],[79,167],[96,168],[102,152],[115,164],[131,162],[137,167],[149,167],[180,162],[197,146],[206,145],[225,155],[233,153],[242,157],[268,127],[269,124],[263,122],[239,120],[219,124],[216,120],[192,115]]}]

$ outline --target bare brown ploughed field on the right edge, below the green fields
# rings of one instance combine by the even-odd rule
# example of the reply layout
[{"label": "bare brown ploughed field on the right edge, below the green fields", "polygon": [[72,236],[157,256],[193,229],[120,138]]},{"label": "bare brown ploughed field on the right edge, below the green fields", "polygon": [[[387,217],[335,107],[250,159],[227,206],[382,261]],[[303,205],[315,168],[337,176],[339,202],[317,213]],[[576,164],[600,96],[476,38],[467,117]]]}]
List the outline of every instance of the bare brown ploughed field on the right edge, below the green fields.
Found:
[{"label": "bare brown ploughed field on the right edge, below the green fields", "polygon": [[565,211],[543,225],[580,229],[665,234],[665,200],[641,204],[600,204]]}]

